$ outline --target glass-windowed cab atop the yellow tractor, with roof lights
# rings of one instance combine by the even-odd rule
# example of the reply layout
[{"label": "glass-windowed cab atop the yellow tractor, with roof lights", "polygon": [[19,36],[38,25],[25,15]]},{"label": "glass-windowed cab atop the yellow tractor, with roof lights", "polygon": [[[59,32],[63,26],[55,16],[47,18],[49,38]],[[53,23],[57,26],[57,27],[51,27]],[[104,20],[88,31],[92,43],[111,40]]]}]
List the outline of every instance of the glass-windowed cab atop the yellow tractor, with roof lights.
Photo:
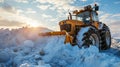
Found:
[{"label": "glass-windowed cab atop the yellow tractor, with roof lights", "polygon": [[68,20],[79,20],[84,22],[85,24],[89,24],[90,22],[94,21],[98,22],[98,9],[99,7],[96,4],[93,8],[91,7],[91,5],[85,6],[83,10],[73,11],[73,15],[69,13]]}]

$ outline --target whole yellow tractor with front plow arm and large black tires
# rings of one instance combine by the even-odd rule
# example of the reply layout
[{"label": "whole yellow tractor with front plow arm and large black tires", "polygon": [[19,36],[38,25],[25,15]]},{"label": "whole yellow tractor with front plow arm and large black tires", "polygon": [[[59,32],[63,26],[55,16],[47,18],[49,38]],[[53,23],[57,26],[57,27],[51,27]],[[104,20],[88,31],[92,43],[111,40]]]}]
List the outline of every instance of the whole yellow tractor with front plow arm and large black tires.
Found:
[{"label": "whole yellow tractor with front plow arm and large black tires", "polygon": [[85,6],[81,10],[69,12],[67,20],[59,22],[60,31],[39,33],[40,36],[65,35],[64,43],[72,46],[89,47],[95,45],[100,50],[111,46],[109,27],[98,19],[99,6],[95,4]]}]

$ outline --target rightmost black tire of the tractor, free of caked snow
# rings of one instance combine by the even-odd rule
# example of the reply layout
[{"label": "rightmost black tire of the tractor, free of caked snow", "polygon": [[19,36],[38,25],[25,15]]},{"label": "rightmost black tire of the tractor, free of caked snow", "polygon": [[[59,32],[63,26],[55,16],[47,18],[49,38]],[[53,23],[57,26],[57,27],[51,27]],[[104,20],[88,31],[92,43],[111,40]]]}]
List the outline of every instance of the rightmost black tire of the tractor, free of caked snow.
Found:
[{"label": "rightmost black tire of the tractor, free of caked snow", "polygon": [[100,30],[100,37],[101,37],[101,49],[106,50],[109,49],[111,46],[111,33],[105,24],[103,25],[102,30]]}]

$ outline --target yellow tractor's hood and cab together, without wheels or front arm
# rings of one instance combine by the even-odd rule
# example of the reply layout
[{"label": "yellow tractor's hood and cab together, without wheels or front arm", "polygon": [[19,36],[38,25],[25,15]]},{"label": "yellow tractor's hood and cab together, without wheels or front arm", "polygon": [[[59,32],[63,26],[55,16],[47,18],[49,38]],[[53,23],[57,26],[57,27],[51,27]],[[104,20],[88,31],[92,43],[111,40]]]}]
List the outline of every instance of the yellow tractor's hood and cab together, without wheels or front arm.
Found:
[{"label": "yellow tractor's hood and cab together, without wheels or front arm", "polygon": [[98,6],[95,5],[93,8],[91,5],[85,6],[82,10],[75,10],[73,13],[69,12],[67,20],[59,22],[60,30],[65,30],[69,34],[75,34],[76,30],[79,30],[82,25],[94,25],[98,27]]}]

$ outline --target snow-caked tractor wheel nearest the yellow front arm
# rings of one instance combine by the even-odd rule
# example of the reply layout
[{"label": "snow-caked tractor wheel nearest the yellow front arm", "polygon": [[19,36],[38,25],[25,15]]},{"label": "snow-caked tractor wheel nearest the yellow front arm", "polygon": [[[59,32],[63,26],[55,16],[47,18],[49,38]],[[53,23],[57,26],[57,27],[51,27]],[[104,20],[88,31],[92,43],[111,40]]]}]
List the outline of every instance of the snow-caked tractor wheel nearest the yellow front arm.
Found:
[{"label": "snow-caked tractor wheel nearest the yellow front arm", "polygon": [[78,47],[89,47],[90,45],[94,45],[100,48],[100,35],[98,34],[98,30],[92,26],[83,27],[77,34],[76,43]]}]

